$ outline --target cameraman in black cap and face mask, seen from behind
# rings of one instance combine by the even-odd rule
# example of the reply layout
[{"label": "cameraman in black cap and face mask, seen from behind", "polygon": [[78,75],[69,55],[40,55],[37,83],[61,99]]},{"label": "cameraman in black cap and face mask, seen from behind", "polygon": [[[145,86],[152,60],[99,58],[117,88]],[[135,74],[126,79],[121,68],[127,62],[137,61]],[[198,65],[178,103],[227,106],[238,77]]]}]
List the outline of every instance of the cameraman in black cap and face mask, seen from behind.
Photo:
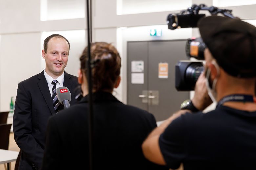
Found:
[{"label": "cameraman in black cap and face mask, seen from behind", "polygon": [[[172,169],[256,169],[256,27],[221,16],[198,27],[207,48],[195,96],[152,131],[143,153]],[[212,101],[216,109],[202,113]]]}]

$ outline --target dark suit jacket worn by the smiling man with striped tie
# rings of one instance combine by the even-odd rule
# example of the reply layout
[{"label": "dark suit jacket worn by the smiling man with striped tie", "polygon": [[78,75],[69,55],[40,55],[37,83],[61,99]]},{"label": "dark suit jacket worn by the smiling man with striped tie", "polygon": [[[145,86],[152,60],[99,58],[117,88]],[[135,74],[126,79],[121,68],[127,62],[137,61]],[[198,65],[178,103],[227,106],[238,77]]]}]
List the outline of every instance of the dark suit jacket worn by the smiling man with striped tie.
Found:
[{"label": "dark suit jacket worn by the smiling man with striped tie", "polygon": [[[80,93],[76,76],[64,73],[63,86],[71,92],[70,105]],[[63,109],[63,106],[60,107]],[[55,114],[44,72],[18,84],[13,115],[14,138],[22,151],[19,170],[40,169],[48,118]]]}]

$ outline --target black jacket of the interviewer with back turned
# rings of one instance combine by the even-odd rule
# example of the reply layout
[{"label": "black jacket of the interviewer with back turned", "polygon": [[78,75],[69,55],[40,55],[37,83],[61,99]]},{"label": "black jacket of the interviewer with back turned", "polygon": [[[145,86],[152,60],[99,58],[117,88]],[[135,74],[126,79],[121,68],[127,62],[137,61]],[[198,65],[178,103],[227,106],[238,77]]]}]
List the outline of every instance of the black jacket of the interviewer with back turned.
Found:
[{"label": "black jacket of the interviewer with back turned", "polygon": [[[141,145],[157,126],[152,114],[93,94],[93,169],[166,169],[145,159]],[[89,169],[88,96],[49,119],[42,170]]]}]

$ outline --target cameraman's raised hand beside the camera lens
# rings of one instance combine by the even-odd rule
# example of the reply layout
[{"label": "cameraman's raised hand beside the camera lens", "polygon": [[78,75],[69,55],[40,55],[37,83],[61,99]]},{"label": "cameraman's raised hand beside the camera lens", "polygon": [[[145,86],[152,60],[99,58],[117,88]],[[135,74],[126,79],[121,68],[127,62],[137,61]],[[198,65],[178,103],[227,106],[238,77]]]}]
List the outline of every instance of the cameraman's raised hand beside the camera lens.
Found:
[{"label": "cameraman's raised hand beside the camera lens", "polygon": [[192,99],[193,105],[198,109],[203,111],[210,104],[212,104],[212,100],[207,92],[206,87],[206,79],[204,72],[199,76],[196,86],[195,86],[195,95]]}]

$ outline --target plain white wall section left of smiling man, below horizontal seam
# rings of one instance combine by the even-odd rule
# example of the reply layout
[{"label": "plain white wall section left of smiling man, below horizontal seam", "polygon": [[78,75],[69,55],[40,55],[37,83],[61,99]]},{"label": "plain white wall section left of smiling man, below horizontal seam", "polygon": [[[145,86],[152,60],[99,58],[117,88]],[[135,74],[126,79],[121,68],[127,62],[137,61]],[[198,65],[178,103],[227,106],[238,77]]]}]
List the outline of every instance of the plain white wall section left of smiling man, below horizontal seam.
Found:
[{"label": "plain white wall section left of smiling man, below horizontal seam", "polygon": [[40,32],[1,35],[0,108],[8,111],[18,83],[41,71]]}]

